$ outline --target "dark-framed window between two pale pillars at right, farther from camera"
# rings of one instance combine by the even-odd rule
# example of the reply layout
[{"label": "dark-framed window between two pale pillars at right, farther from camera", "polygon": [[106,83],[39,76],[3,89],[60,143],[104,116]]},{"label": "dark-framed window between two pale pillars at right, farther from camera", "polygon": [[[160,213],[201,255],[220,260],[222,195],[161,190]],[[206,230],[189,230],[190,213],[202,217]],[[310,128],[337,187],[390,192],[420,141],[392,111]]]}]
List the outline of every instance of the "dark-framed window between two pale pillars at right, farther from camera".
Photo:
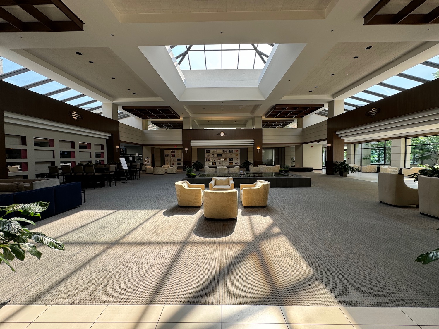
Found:
[{"label": "dark-framed window between two pale pillars at right, farther from camera", "polygon": [[366,166],[367,164],[390,164],[392,141],[369,142],[355,144],[354,163]]}]

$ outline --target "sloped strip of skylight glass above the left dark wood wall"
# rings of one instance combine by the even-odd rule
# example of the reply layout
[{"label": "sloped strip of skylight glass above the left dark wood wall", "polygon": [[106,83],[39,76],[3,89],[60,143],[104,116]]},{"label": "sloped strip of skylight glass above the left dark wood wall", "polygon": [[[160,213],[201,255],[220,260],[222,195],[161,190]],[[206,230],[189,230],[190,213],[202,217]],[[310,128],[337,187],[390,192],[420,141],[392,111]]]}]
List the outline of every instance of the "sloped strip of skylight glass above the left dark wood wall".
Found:
[{"label": "sloped strip of skylight glass above the left dark wood wall", "polygon": [[[79,91],[48,79],[44,75],[24,68],[4,57],[0,57],[0,64],[2,64],[0,65],[0,80],[78,106],[87,111],[96,113],[101,109],[102,113],[102,103],[92,97],[83,95]],[[1,72],[2,68],[3,72]]]}]

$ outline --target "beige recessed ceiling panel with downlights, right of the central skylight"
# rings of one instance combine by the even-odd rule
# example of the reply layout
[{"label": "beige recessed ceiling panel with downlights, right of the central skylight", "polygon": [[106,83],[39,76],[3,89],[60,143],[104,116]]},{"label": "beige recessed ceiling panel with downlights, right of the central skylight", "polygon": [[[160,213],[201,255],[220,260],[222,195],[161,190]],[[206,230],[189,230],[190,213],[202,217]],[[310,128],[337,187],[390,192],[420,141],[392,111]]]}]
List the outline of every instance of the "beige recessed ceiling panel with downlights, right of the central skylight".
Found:
[{"label": "beige recessed ceiling panel with downlights, right of the central skylight", "polygon": [[[290,95],[333,95],[421,44],[418,42],[337,43]],[[366,50],[370,46],[372,48]]]}]

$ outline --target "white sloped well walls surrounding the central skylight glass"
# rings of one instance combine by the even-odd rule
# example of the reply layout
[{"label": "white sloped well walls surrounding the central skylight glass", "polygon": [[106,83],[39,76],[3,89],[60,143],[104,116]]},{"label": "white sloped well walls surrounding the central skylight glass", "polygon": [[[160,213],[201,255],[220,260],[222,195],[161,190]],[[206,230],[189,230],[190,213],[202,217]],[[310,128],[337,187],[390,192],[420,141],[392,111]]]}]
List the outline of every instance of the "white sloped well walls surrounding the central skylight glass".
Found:
[{"label": "white sloped well walls surrounding the central skylight glass", "polygon": [[169,46],[139,46],[139,49],[180,101],[265,100],[305,46],[306,43],[275,44],[262,70],[199,72],[180,70]]}]

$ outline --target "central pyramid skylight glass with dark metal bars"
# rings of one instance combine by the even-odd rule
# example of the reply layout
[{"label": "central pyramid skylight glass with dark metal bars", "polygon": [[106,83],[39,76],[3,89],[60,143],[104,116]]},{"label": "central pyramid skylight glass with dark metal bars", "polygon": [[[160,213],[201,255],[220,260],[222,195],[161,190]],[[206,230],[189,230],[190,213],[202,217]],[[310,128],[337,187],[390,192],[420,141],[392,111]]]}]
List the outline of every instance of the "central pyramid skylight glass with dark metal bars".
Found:
[{"label": "central pyramid skylight glass with dark metal bars", "polygon": [[273,43],[170,46],[181,70],[264,68]]}]

